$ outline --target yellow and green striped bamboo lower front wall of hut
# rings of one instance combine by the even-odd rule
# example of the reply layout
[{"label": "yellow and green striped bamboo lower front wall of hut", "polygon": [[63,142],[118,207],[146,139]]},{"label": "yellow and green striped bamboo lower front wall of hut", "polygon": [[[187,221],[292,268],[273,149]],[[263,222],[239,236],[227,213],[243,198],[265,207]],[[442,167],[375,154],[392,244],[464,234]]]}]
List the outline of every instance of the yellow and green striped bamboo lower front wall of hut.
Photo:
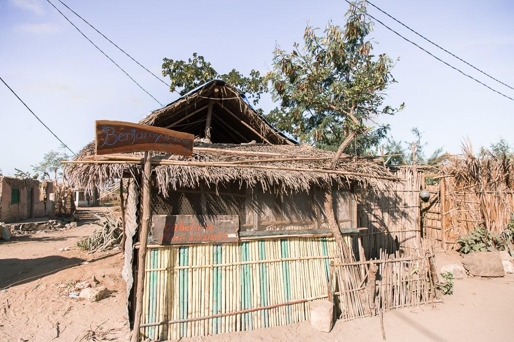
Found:
[{"label": "yellow and green striped bamboo lower front wall of hut", "polygon": [[[307,320],[310,301],[326,298],[328,265],[338,261],[336,254],[330,237],[150,248],[141,339],[205,336]],[[237,314],[226,315],[230,313]],[[160,324],[144,327],[152,323]]]}]

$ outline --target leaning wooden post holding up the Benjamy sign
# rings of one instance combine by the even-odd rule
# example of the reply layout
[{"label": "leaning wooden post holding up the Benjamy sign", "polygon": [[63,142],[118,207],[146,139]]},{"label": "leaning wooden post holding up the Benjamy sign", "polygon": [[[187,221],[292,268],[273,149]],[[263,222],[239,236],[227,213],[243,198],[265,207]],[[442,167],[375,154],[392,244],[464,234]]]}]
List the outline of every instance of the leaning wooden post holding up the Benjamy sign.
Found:
[{"label": "leaning wooden post holding up the Benjamy sign", "polygon": [[144,261],[146,259],[146,242],[150,224],[150,176],[152,173],[151,153],[144,152],[144,170],[142,177],[143,200],[141,229],[139,230],[139,254],[137,265],[137,288],[136,288],[136,313],[134,315],[134,329],[132,331],[132,342],[139,341],[139,326],[141,325],[141,313],[143,307],[143,283],[144,283]]}]

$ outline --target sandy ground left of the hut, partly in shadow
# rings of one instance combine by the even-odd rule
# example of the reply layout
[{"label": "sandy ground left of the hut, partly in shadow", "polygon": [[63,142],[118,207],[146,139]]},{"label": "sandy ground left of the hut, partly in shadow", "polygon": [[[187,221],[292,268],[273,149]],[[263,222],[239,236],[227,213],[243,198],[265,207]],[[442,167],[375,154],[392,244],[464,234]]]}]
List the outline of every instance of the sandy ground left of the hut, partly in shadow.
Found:
[{"label": "sandy ground left of the hut, partly in shadow", "polygon": [[[79,223],[75,229],[0,243],[0,341],[79,341],[87,330],[127,339],[121,252],[87,254],[75,247],[98,227]],[[59,251],[66,247],[70,250]],[[93,274],[109,290],[106,298],[89,303],[67,296],[66,284]]]}]

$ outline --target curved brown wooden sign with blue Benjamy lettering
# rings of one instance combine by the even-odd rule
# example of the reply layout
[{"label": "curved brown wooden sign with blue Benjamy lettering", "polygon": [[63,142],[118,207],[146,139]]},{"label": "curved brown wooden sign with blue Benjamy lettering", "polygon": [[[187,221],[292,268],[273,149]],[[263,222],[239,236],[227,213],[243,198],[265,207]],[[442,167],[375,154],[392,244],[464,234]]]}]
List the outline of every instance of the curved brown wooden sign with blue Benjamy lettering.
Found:
[{"label": "curved brown wooden sign with blue Benjamy lettering", "polygon": [[186,157],[193,154],[193,134],[110,120],[97,120],[95,127],[96,154],[140,151],[168,152]]}]

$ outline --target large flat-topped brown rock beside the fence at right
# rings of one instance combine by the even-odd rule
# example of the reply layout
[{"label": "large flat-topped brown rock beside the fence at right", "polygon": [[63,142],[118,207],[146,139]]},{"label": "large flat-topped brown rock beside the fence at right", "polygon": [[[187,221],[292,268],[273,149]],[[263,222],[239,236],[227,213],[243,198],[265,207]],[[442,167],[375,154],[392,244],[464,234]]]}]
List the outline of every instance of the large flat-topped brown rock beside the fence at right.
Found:
[{"label": "large flat-topped brown rock beside the fence at right", "polygon": [[475,252],[464,254],[462,264],[472,275],[481,277],[503,277],[502,259],[498,252]]}]

